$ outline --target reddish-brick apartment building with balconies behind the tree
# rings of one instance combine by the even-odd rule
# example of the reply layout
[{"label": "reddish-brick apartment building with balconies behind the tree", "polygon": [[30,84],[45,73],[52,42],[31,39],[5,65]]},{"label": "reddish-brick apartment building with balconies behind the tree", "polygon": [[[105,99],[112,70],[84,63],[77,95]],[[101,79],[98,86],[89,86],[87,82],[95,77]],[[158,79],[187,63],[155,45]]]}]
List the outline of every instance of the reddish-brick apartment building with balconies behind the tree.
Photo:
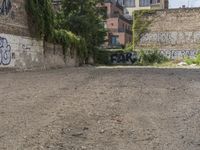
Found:
[{"label": "reddish-brick apartment building with balconies behind the tree", "polygon": [[124,8],[115,0],[106,0],[101,7],[106,10],[105,28],[108,30],[106,48],[121,48],[132,42],[132,21],[124,17]]}]

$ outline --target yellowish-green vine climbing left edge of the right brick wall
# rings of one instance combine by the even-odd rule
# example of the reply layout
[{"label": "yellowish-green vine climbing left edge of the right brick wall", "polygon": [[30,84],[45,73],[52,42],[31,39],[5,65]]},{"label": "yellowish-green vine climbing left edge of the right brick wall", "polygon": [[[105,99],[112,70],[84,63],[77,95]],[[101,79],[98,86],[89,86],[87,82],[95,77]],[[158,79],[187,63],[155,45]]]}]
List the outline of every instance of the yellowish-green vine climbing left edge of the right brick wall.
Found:
[{"label": "yellowish-green vine climbing left edge of the right brick wall", "polygon": [[135,48],[142,36],[147,33],[152,20],[145,20],[144,17],[154,14],[155,10],[136,10],[133,12],[133,48]]}]

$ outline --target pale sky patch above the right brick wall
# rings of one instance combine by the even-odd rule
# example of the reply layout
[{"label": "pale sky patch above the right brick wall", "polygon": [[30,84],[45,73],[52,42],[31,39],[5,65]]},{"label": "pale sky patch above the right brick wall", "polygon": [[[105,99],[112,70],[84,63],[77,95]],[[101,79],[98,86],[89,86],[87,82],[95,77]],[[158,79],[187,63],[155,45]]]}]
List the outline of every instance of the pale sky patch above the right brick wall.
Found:
[{"label": "pale sky patch above the right brick wall", "polygon": [[186,7],[200,7],[200,0],[169,0],[170,8],[179,8],[182,5]]}]

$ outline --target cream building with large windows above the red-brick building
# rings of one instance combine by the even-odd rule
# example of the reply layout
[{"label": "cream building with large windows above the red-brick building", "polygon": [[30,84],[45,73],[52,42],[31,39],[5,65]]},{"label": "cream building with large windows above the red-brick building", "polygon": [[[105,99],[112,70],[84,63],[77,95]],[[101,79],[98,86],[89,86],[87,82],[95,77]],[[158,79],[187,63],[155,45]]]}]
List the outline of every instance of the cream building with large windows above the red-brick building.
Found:
[{"label": "cream building with large windows above the red-brick building", "polygon": [[134,10],[168,9],[168,0],[116,0],[124,7],[124,15],[132,19]]}]

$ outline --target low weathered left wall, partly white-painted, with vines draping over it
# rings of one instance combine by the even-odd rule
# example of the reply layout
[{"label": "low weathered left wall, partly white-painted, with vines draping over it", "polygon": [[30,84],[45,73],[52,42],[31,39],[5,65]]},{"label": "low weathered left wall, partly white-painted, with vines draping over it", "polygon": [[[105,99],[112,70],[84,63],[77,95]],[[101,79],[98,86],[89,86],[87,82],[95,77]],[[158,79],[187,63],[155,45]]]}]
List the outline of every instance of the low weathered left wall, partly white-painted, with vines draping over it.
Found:
[{"label": "low weathered left wall, partly white-painted, with vines draping over it", "polygon": [[76,54],[68,50],[66,57],[60,45],[37,41],[30,37],[0,33],[0,68],[45,69],[77,66]]}]

